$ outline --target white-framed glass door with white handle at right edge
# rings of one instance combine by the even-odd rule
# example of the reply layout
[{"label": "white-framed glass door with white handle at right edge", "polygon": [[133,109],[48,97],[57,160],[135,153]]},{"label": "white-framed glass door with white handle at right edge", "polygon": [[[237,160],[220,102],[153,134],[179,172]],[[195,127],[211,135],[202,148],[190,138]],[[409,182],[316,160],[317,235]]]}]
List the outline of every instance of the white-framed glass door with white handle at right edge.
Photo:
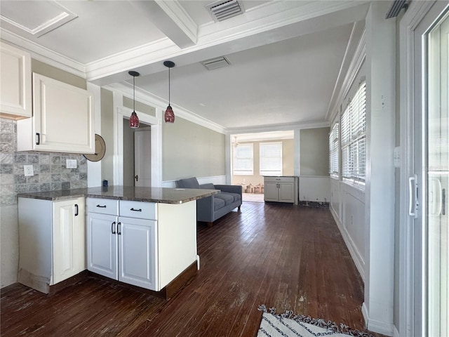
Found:
[{"label": "white-framed glass door with white handle at right edge", "polygon": [[415,336],[448,333],[448,3],[415,29]]}]

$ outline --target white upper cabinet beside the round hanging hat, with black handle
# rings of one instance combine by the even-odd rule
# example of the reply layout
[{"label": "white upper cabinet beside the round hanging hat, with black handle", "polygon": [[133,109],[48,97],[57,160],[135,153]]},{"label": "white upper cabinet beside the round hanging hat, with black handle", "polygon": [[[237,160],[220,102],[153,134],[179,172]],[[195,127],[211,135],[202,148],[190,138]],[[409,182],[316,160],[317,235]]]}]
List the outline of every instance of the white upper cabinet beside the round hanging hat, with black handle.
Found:
[{"label": "white upper cabinet beside the round hanging hat, with black handle", "polygon": [[33,110],[18,121],[18,151],[95,153],[91,93],[33,73]]}]

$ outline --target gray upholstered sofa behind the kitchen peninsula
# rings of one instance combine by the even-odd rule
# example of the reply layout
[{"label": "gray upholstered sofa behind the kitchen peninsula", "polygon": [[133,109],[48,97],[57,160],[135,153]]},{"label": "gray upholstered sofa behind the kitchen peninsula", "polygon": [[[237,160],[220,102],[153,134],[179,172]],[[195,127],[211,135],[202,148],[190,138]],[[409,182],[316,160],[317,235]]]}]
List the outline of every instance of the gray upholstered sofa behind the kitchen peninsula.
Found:
[{"label": "gray upholstered sofa behind the kitchen peninsula", "polygon": [[241,186],[240,185],[199,185],[196,178],[176,180],[178,188],[202,188],[206,190],[220,190],[219,193],[210,197],[196,200],[196,220],[213,225],[213,221],[221,218],[236,207],[240,211],[241,206]]}]

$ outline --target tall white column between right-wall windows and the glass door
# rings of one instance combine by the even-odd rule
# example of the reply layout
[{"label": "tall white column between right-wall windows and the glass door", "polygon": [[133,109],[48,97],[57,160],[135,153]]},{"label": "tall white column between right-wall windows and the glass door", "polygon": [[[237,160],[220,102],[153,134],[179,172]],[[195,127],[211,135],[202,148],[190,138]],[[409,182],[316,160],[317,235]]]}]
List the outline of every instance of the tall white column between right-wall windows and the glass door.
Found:
[{"label": "tall white column between right-wall windows and the glass door", "polygon": [[396,21],[389,1],[366,16],[366,272],[363,315],[368,329],[393,336]]}]

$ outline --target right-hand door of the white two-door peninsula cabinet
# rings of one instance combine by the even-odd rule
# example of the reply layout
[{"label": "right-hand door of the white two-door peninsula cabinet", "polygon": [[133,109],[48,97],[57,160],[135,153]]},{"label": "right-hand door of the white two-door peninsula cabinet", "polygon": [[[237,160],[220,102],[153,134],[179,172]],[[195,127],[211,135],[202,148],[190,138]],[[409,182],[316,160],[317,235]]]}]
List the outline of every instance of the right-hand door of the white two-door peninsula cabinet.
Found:
[{"label": "right-hand door of the white two-door peninsula cabinet", "polygon": [[119,217],[119,281],[156,290],[156,221]]}]

